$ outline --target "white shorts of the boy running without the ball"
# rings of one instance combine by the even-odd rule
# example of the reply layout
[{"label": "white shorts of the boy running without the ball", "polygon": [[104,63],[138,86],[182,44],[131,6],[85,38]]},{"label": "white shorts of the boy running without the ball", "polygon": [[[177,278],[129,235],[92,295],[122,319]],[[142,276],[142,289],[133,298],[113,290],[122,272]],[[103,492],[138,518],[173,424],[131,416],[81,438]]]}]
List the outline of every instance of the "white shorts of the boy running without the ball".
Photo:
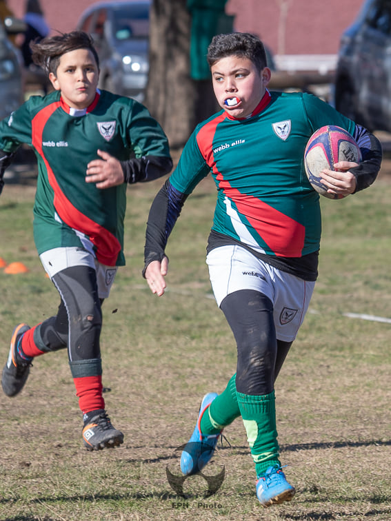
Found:
[{"label": "white shorts of the boy running without the ball", "polygon": [[39,256],[41,263],[50,279],[63,269],[72,266],[90,266],[97,274],[98,296],[108,298],[117,266],[105,266],[86,249],[80,247],[60,247],[48,249]]}]

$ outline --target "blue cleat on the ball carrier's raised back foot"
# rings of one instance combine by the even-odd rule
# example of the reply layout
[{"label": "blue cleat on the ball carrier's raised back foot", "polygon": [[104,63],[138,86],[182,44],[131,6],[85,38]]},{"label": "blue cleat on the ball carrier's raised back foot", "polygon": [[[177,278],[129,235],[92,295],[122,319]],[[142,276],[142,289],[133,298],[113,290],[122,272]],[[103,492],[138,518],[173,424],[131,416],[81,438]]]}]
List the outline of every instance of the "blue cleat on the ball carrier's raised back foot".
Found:
[{"label": "blue cleat on the ball carrier's raised back foot", "polygon": [[208,393],[201,401],[197,425],[181,453],[181,471],[185,476],[201,471],[213,456],[221,431],[217,434],[203,434],[199,426],[203,413],[217,396],[217,393]]}]

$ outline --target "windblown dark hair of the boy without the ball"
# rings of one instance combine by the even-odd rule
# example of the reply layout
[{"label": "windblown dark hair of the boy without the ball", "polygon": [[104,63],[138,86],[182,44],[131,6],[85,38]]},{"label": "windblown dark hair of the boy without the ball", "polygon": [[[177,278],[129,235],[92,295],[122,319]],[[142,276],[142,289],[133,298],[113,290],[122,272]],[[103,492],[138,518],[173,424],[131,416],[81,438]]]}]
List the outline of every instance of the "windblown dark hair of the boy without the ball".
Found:
[{"label": "windblown dark hair of the boy without the ball", "polygon": [[77,49],[89,49],[94,55],[99,69],[99,57],[94,48],[94,40],[83,31],[72,31],[54,37],[44,38],[39,42],[30,43],[32,61],[43,68],[47,74],[56,74],[60,58],[66,52]]}]

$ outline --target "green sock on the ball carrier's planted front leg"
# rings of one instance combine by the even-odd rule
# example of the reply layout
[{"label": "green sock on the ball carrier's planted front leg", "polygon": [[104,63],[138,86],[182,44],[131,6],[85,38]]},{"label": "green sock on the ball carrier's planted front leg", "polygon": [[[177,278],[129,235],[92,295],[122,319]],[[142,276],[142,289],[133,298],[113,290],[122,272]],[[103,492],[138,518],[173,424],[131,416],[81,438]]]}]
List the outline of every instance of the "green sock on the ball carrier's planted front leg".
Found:
[{"label": "green sock on the ball carrier's planted front leg", "polygon": [[279,462],[274,391],[263,396],[237,393],[257,476]]}]

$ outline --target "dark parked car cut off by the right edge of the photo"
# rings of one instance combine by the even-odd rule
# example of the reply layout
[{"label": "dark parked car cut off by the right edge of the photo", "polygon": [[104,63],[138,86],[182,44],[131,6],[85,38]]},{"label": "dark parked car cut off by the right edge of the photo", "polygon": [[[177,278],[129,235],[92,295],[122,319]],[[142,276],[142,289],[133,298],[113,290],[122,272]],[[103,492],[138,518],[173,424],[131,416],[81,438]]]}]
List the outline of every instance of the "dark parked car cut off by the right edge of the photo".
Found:
[{"label": "dark parked car cut off by the right edge of the photo", "polygon": [[334,88],[339,112],[391,132],[391,0],[366,0],[343,32]]}]

